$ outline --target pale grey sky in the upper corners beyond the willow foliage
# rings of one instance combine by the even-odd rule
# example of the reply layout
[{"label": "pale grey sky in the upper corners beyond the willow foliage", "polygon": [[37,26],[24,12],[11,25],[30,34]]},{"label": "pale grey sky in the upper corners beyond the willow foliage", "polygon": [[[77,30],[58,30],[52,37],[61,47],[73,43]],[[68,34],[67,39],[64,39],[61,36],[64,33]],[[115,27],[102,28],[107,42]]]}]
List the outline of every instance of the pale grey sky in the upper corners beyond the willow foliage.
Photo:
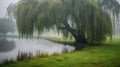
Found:
[{"label": "pale grey sky in the upper corners beyond the willow foliage", "polygon": [[[11,3],[16,3],[19,0],[0,0],[0,18],[5,17],[6,9]],[[118,0],[120,2],[120,0]]]}]

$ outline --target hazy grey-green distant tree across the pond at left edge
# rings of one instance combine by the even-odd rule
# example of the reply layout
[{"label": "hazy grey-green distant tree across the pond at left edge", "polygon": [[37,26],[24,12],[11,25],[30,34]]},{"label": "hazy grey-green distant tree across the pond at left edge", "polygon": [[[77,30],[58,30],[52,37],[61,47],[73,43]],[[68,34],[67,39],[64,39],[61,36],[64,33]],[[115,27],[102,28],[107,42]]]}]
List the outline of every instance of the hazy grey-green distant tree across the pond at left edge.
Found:
[{"label": "hazy grey-green distant tree across the pond at left edge", "polygon": [[15,23],[8,18],[0,18],[0,34],[7,34],[15,31]]}]

